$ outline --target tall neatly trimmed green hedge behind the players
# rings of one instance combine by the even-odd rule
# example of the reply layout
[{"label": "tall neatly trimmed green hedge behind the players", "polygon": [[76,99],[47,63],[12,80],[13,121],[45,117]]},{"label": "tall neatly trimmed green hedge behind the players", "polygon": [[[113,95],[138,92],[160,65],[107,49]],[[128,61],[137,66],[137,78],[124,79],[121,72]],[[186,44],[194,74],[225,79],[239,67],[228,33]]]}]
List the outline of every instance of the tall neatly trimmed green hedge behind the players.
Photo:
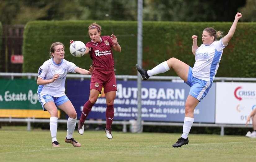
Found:
[{"label": "tall neatly trimmed green hedge behind the players", "polygon": [[[81,68],[88,69],[92,60],[88,55],[73,57],[69,52],[69,40],[90,41],[88,26],[95,21],[31,21],[24,31],[23,72],[38,72],[39,66],[48,59],[50,45],[60,41],[65,45],[65,59]],[[97,21],[102,27],[101,35],[115,34],[122,48],[114,52],[116,75],[137,75],[137,22]],[[224,31],[226,35],[232,22],[143,22],[143,67],[150,69],[175,57],[193,67],[192,35],[201,35],[206,27]],[[256,78],[256,23],[239,22],[236,32],[224,49],[216,77]],[[160,74],[177,76],[173,70]]]}]

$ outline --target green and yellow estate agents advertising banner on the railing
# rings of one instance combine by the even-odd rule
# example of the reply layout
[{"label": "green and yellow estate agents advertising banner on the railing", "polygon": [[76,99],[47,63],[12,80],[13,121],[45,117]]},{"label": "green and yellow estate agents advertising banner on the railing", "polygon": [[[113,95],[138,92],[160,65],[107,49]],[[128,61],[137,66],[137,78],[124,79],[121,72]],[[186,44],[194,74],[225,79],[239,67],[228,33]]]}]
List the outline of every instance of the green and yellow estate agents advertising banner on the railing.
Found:
[{"label": "green and yellow estate agents advertising banner on the railing", "polygon": [[38,101],[36,80],[0,79],[0,85],[0,117],[50,117]]}]

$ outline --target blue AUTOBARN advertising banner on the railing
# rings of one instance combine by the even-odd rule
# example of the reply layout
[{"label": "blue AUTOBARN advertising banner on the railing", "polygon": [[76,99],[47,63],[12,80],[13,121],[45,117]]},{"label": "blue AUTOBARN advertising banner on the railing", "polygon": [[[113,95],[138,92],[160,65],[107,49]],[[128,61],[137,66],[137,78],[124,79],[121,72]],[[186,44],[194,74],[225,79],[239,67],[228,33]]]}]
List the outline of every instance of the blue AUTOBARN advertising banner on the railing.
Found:
[{"label": "blue AUTOBARN advertising banner on the railing", "polygon": [[[81,117],[84,103],[89,99],[90,80],[67,80],[66,95],[73,103],[77,118]],[[114,102],[115,120],[137,118],[137,81],[117,80]],[[104,89],[104,87],[103,87]],[[185,102],[190,87],[185,83],[169,81],[143,81],[141,88],[141,113],[144,121],[183,122]],[[104,90],[92,107],[88,119],[106,119]],[[194,122],[214,123],[215,83],[194,111]]]}]

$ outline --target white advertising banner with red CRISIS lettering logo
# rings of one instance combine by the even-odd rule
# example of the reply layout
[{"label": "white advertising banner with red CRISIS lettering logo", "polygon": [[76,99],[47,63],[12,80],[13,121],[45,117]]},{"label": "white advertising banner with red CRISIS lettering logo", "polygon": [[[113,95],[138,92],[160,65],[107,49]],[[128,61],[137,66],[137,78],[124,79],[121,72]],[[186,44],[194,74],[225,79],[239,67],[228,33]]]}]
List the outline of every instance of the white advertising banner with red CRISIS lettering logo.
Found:
[{"label": "white advertising banner with red CRISIS lettering logo", "polygon": [[255,107],[256,83],[216,83],[215,123],[245,124]]}]

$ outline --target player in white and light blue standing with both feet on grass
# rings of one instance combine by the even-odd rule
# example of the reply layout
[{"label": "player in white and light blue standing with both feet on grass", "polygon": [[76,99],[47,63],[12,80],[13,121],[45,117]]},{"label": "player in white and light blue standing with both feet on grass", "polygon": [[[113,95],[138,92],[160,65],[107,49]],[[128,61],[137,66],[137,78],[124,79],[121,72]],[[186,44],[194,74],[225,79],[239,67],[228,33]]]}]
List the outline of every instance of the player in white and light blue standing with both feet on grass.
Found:
[{"label": "player in white and light blue standing with both feet on grass", "polygon": [[76,111],[74,106],[65,95],[65,80],[68,72],[78,72],[83,75],[91,75],[93,67],[89,71],[77,67],[74,63],[64,59],[65,47],[60,42],[55,42],[50,47],[50,59],[43,63],[38,70],[38,96],[43,110],[48,111],[50,117],[50,131],[52,136],[52,146],[60,147],[57,141],[58,110],[63,110],[68,116],[66,143],[71,143],[74,147],[81,144],[74,140],[73,133],[76,126]]}]

